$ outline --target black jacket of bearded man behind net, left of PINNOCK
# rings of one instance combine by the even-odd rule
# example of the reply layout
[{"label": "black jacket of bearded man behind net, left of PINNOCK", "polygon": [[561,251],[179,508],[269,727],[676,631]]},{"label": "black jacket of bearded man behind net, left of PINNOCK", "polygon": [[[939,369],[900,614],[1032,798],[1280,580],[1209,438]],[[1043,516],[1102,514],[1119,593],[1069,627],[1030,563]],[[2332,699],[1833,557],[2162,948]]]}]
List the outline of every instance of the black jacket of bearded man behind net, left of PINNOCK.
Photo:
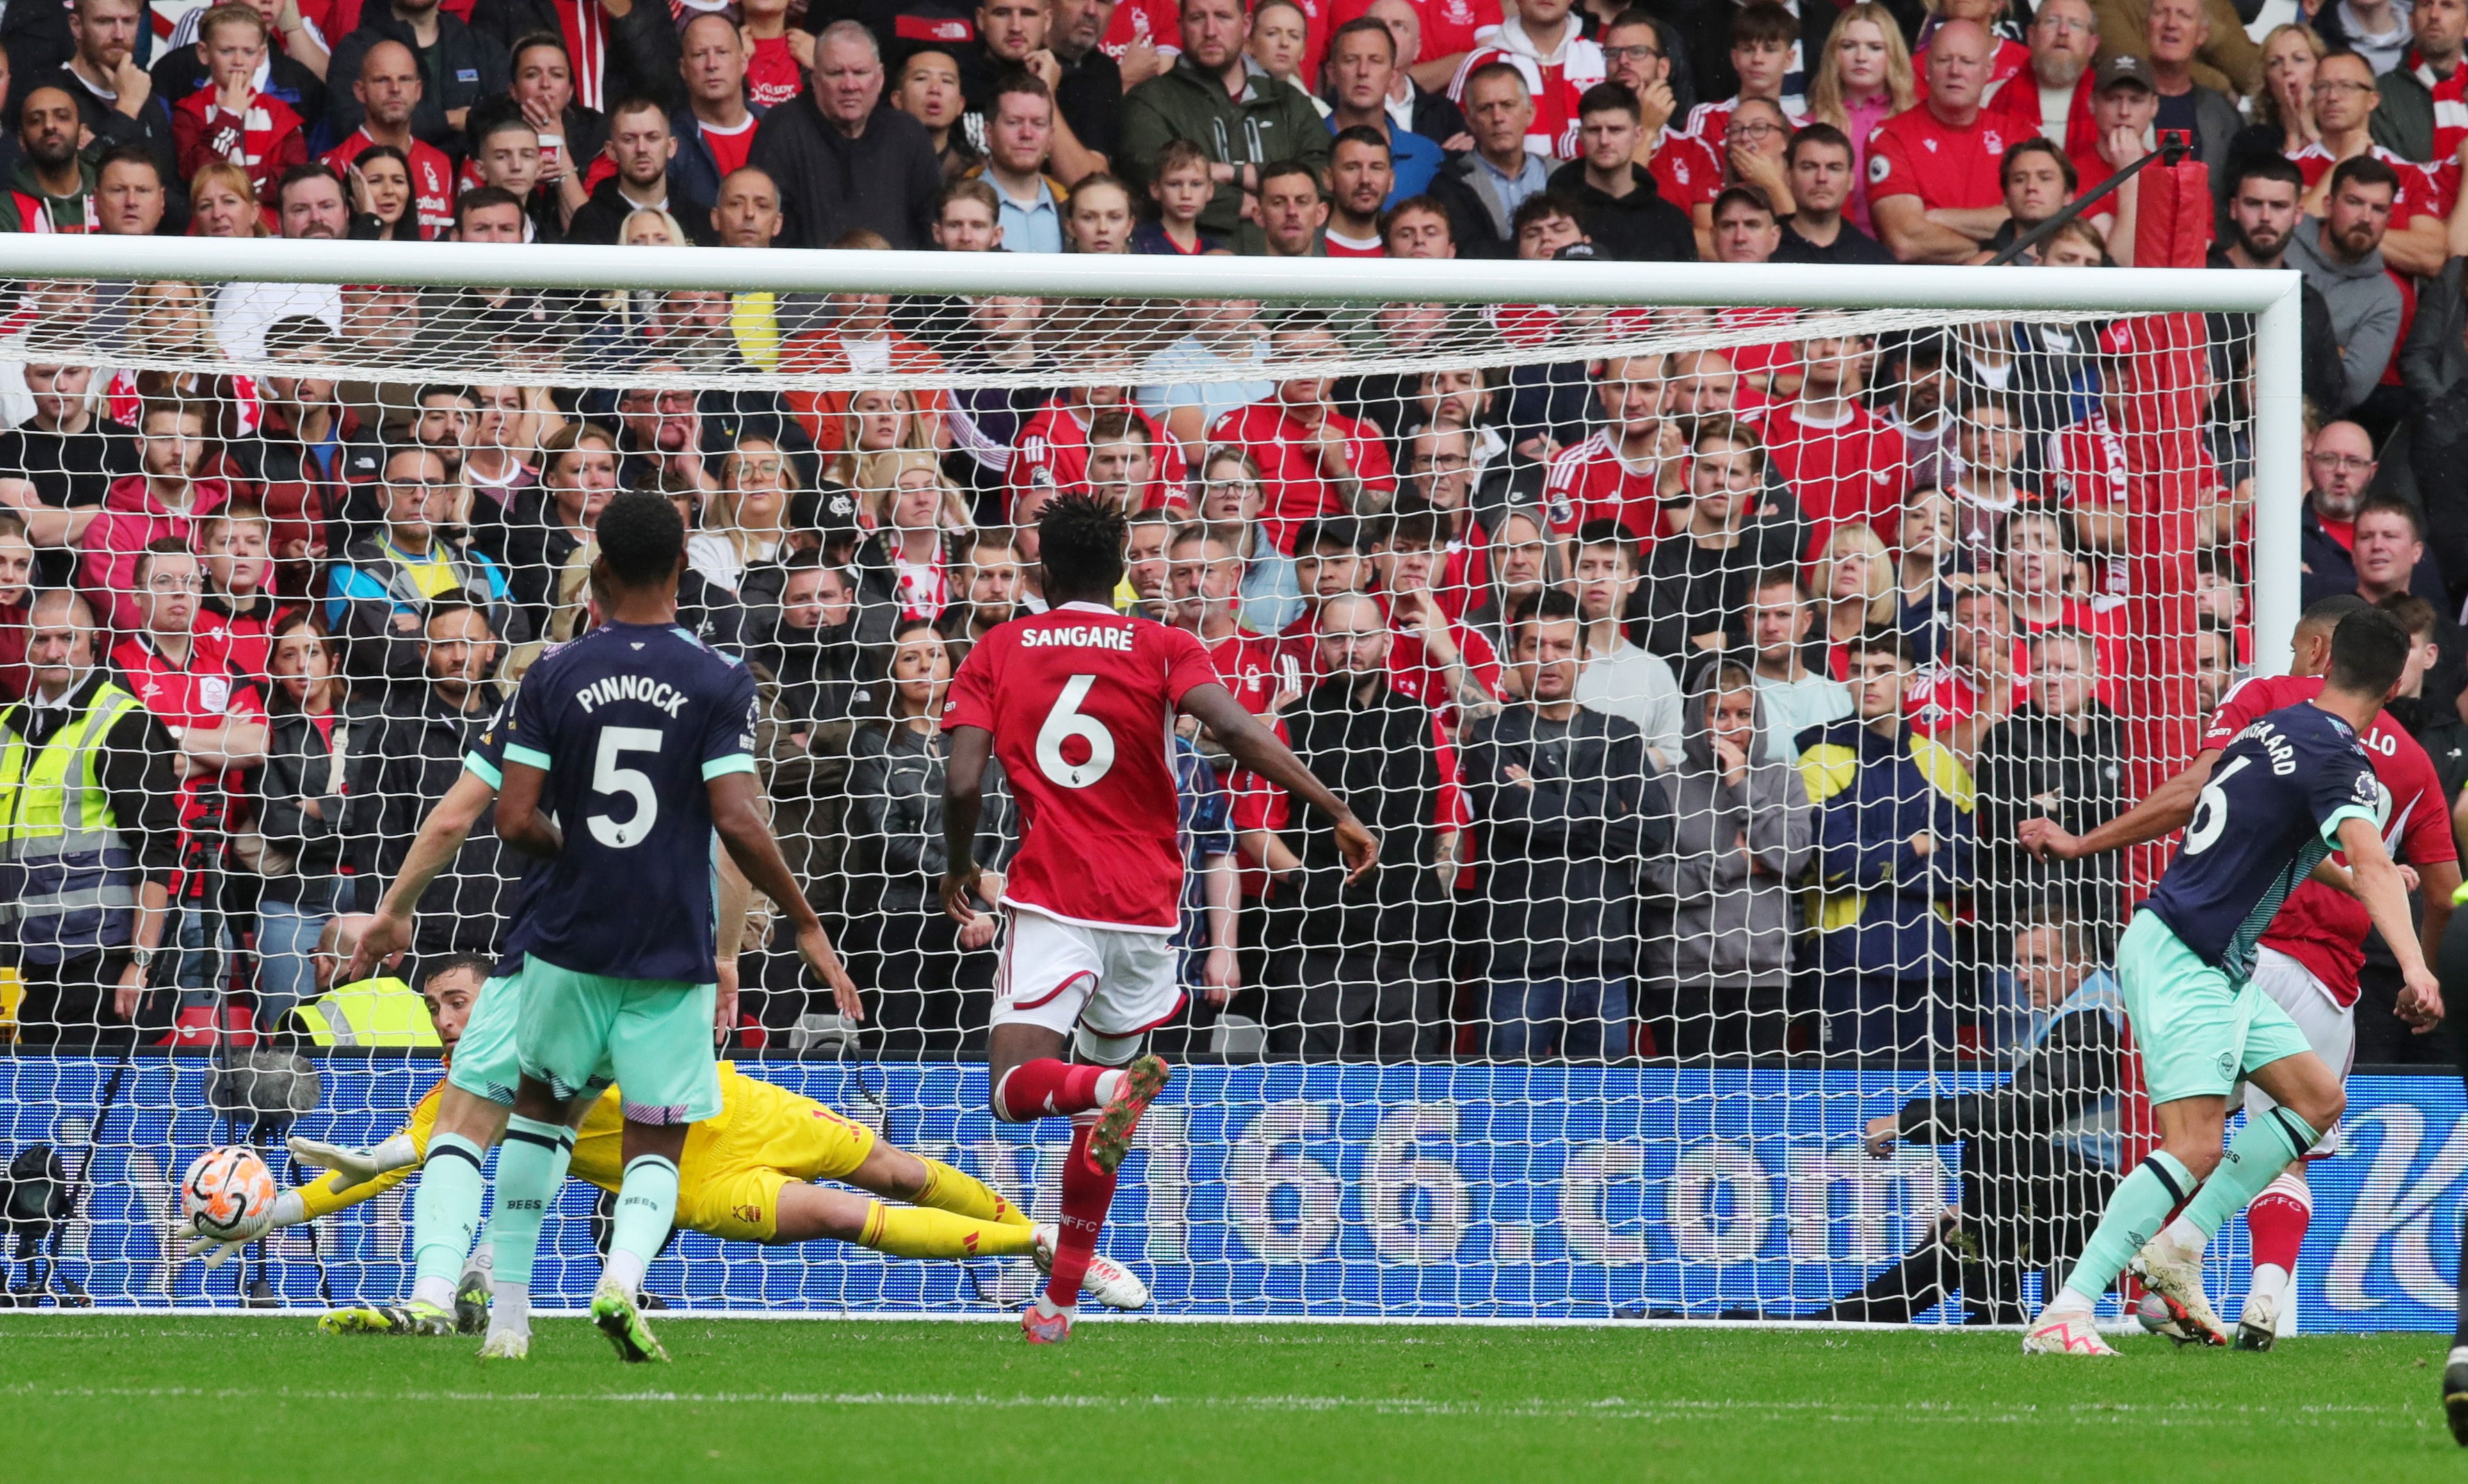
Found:
[{"label": "black jacket of bearded man behind net, left of PINNOCK", "polygon": [[[420,820],[454,788],[466,743],[489,719],[491,711],[447,709],[424,684],[395,686],[378,706],[353,704],[343,753],[343,837],[363,894],[383,891],[402,869]],[[412,946],[420,953],[494,953],[521,874],[521,857],[496,837],[491,805],[454,852],[454,864],[420,899]]]}]

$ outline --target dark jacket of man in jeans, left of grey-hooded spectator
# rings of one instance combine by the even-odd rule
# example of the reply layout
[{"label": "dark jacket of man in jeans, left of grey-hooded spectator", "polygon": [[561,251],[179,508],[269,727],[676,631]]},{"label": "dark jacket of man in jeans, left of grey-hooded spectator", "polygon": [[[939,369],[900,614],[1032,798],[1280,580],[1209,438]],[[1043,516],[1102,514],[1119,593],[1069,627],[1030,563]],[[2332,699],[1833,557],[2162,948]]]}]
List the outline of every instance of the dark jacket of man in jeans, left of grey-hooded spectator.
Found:
[{"label": "dark jacket of man in jeans, left of grey-hooded spectator", "polygon": [[1552,723],[1508,706],[1468,726],[1459,763],[1491,978],[1629,975],[1639,869],[1671,849],[1668,798],[1636,723],[1582,706]]}]

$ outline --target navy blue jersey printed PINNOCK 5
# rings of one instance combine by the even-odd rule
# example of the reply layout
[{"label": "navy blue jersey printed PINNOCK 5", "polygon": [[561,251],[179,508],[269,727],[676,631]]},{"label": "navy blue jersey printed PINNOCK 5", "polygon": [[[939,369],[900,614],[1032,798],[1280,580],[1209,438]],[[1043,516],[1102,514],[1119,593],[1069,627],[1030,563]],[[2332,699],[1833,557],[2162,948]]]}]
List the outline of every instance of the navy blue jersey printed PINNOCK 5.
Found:
[{"label": "navy blue jersey printed PINNOCK 5", "polygon": [[508,763],[548,773],[565,849],[531,872],[506,953],[629,980],[711,983],[711,795],[755,770],[755,677],[679,627],[602,625],[513,699]]}]

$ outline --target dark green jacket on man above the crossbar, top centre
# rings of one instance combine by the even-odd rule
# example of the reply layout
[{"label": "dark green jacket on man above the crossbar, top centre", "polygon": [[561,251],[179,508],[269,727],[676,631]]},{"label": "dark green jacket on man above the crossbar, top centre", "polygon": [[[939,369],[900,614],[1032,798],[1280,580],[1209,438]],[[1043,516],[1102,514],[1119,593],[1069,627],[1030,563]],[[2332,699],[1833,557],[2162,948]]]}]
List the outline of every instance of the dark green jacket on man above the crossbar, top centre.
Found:
[{"label": "dark green jacket on man above the crossbar, top centre", "polygon": [[[1227,165],[1276,165],[1303,160],[1313,170],[1328,165],[1328,126],[1293,86],[1286,86],[1244,57],[1244,91],[1227,96],[1224,84],[1192,62],[1190,52],[1175,67],[1123,96],[1123,136],[1116,163],[1133,190],[1155,175],[1157,151],[1190,138]],[[1217,188],[1209,210],[1199,212],[1204,232],[1222,232],[1236,252],[1259,252],[1259,225],[1241,220],[1241,183]]]}]

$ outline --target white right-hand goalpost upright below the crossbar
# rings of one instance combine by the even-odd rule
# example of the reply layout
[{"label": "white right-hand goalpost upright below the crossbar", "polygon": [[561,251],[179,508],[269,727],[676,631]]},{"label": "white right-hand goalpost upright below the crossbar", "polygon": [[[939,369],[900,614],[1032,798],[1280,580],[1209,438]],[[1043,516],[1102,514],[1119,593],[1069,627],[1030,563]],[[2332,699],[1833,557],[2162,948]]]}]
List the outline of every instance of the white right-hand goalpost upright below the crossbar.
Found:
[{"label": "white right-hand goalpost upright below the crossbar", "polygon": [[2253,672],[2288,674],[2305,610],[2305,296],[2288,291],[2253,319]]}]

